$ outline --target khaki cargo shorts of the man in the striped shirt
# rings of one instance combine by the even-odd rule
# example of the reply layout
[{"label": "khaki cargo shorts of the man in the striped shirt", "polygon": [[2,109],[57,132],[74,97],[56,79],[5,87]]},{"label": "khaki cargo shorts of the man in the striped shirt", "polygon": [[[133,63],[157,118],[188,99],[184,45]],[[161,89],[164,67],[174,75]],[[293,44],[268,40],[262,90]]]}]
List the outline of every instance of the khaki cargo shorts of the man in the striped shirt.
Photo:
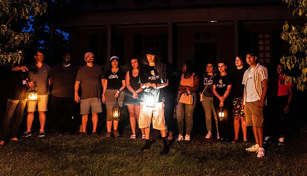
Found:
[{"label": "khaki cargo shorts of the man in the striped shirt", "polygon": [[246,102],[244,106],[246,126],[262,127],[263,107],[259,107],[259,101]]}]

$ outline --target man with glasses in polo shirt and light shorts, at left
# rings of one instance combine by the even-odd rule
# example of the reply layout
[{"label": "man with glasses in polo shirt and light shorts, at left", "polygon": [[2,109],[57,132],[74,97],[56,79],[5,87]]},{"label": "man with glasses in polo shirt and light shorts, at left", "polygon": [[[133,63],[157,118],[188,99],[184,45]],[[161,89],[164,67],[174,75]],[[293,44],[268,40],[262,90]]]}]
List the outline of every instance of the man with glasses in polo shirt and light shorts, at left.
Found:
[{"label": "man with glasses in polo shirt and light shorts, at left", "polygon": [[30,67],[28,85],[30,88],[37,91],[37,101],[28,101],[28,117],[27,117],[27,131],[22,137],[28,137],[32,135],[31,128],[34,119],[34,112],[36,111],[36,105],[39,112],[40,121],[40,133],[38,137],[44,137],[45,123],[46,123],[46,111],[48,111],[48,95],[49,95],[49,72],[50,66],[43,63],[44,54],[41,50],[35,50],[34,52],[35,64]]}]

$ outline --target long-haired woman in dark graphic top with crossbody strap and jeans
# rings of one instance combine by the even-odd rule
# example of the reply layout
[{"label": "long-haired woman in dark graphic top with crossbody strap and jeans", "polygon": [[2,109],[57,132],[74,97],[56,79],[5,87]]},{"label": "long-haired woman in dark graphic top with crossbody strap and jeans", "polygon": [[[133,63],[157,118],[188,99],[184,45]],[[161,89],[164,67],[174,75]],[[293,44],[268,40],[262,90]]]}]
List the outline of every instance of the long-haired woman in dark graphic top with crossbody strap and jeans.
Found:
[{"label": "long-haired woman in dark graphic top with crossbody strap and jeans", "polygon": [[212,112],[215,119],[216,124],[216,132],[217,132],[217,139],[219,139],[219,128],[218,128],[218,120],[216,116],[216,111],[213,106],[213,78],[216,75],[214,73],[214,68],[211,63],[207,64],[206,73],[204,74],[204,90],[200,92],[200,102],[203,105],[206,115],[206,126],[208,130],[208,134],[206,135],[207,139],[212,137]]}]

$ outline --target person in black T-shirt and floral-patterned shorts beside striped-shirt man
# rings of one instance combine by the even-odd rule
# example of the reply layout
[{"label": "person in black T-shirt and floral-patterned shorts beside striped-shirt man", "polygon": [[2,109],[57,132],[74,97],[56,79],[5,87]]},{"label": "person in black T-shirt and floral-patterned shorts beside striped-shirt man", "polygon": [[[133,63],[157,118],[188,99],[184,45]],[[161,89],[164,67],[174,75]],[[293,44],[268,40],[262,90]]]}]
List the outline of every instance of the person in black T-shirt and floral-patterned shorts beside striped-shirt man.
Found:
[{"label": "person in black T-shirt and floral-patterned shorts beside striped-shirt man", "polygon": [[240,130],[240,119],[242,122],[242,131],[243,131],[243,138],[244,141],[247,141],[247,128],[245,123],[245,115],[244,109],[242,108],[242,99],[243,99],[243,92],[244,92],[244,84],[242,84],[243,76],[245,71],[247,70],[246,67],[243,65],[243,60],[241,57],[237,56],[235,58],[235,65],[236,69],[233,74],[234,84],[232,85],[232,93],[233,93],[233,110],[232,116],[234,118],[233,125],[235,129],[235,139],[233,143],[238,141],[239,138],[239,130]]}]

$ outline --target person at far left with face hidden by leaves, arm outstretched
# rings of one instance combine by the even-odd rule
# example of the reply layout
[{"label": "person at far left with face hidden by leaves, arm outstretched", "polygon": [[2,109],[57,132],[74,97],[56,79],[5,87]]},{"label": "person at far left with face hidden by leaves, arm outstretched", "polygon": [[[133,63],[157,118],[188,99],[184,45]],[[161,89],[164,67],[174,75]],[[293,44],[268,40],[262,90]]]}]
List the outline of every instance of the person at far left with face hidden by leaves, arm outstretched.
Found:
[{"label": "person at far left with face hidden by leaves, arm outstretched", "polygon": [[[18,141],[17,132],[27,103],[28,69],[26,66],[9,68],[7,89],[7,111],[1,128],[0,148],[10,140]],[[14,116],[15,112],[15,116]],[[13,119],[14,117],[14,119]],[[10,131],[11,129],[11,131]]]}]

